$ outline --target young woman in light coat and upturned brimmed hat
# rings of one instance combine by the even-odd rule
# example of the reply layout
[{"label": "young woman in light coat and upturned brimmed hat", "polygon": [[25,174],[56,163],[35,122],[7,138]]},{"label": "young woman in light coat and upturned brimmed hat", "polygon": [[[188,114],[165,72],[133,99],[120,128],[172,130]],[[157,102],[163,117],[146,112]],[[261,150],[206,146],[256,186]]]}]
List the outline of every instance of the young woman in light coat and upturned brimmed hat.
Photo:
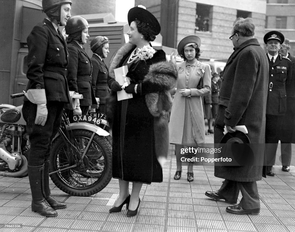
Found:
[{"label": "young woman in light coat and upturned brimmed hat", "polygon": [[[201,96],[210,94],[211,68],[208,64],[197,60],[201,55],[200,45],[200,38],[190,35],[183,38],[177,46],[178,54],[181,55],[184,62],[176,63],[177,90],[169,121],[169,142],[175,144],[176,154],[174,180],[181,178],[181,159],[183,156],[189,155],[183,154],[181,151],[205,143],[205,122]],[[200,82],[203,86],[198,89],[197,86]],[[189,182],[194,180],[193,165],[194,162],[188,164],[187,181]]]}]

